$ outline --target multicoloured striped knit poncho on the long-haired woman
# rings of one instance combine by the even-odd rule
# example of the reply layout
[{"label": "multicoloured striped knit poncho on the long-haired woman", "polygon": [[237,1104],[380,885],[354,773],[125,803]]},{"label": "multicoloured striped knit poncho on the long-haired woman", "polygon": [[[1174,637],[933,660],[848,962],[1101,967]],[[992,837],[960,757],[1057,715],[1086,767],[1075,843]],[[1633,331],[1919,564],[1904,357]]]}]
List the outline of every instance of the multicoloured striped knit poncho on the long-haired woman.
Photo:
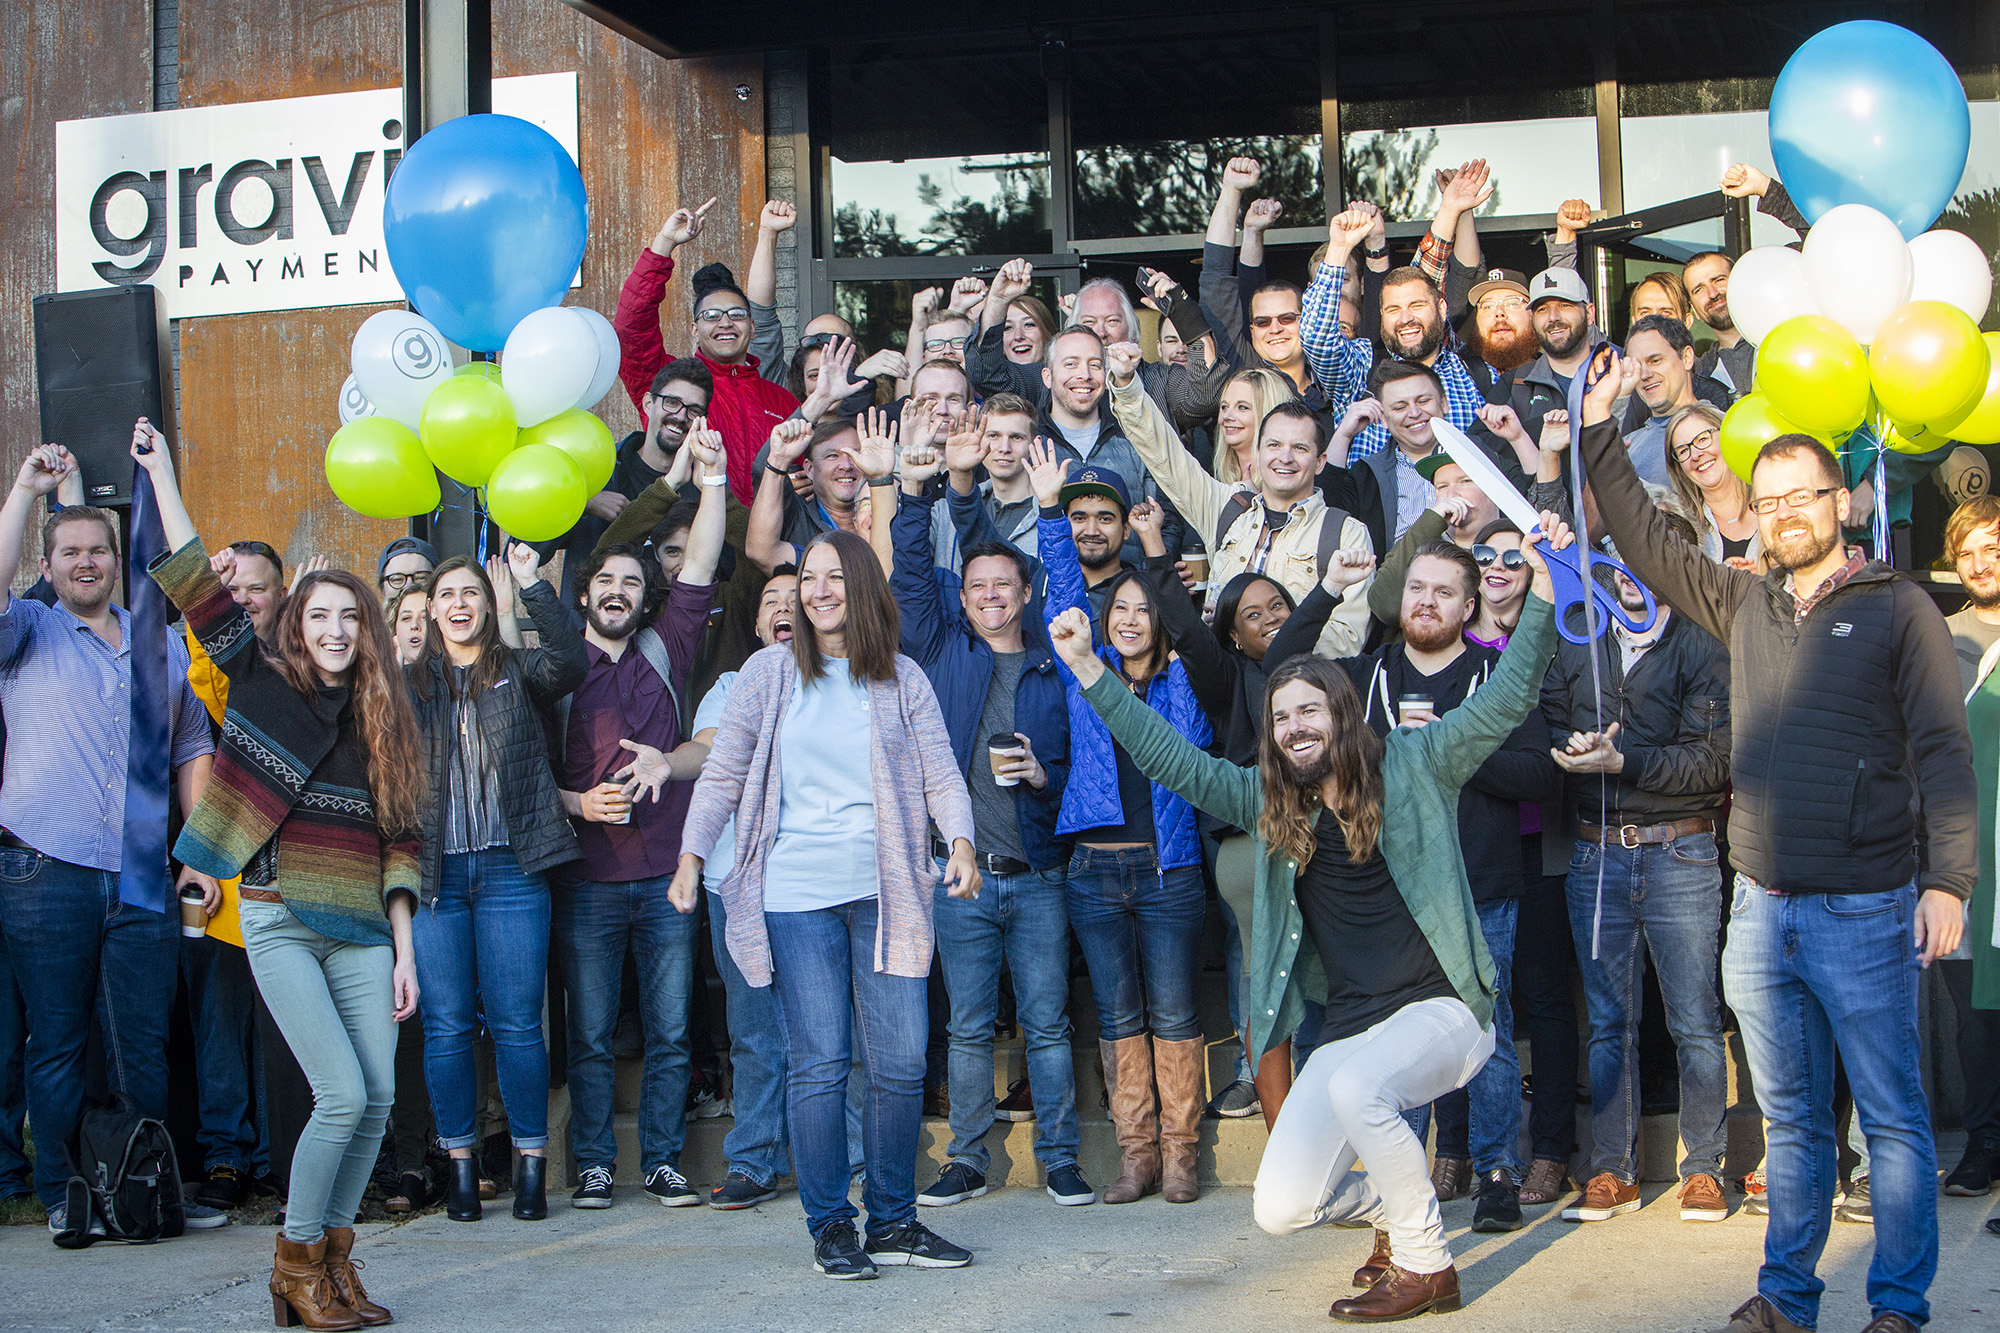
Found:
[{"label": "multicoloured striped knit poncho on the long-haired woman", "polygon": [[416,897],[418,843],[390,841],[376,825],[348,691],[308,699],[292,689],[208,568],[200,540],[150,572],[230,681],[216,771],[174,857],[228,879],[276,835],[276,887],[292,915],[330,939],[390,943],[384,907],[396,889]]}]

